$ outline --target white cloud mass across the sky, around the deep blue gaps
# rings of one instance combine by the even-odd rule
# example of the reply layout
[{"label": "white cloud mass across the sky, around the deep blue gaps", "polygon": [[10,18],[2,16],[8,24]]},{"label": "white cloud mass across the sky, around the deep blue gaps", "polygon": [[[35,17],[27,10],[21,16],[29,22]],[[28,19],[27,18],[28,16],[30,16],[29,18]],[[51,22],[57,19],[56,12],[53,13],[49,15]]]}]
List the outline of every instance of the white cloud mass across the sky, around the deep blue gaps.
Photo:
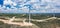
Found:
[{"label": "white cloud mass across the sky, around the deep blue gaps", "polygon": [[[18,3],[20,2],[20,3]],[[39,0],[31,0],[27,3],[26,0],[14,0],[12,2],[11,0],[5,0],[3,7],[0,6],[0,13],[1,12],[6,12],[6,13],[28,13],[29,9],[28,7],[24,7],[24,5],[31,4],[32,7],[36,10],[31,10],[31,13],[56,13],[60,12],[60,9],[56,8],[55,6],[58,5],[60,6],[60,0],[42,0],[41,3],[35,3],[39,2]],[[10,4],[11,8],[5,7],[6,4]],[[17,4],[20,4],[22,8],[16,8]],[[48,4],[48,5],[47,5]],[[41,7],[40,5],[47,5],[46,7]],[[13,9],[12,9],[13,8]],[[53,8],[53,9],[51,9]],[[6,9],[6,10],[5,10]],[[38,10],[40,9],[40,10]],[[38,11],[37,11],[38,10]]]}]

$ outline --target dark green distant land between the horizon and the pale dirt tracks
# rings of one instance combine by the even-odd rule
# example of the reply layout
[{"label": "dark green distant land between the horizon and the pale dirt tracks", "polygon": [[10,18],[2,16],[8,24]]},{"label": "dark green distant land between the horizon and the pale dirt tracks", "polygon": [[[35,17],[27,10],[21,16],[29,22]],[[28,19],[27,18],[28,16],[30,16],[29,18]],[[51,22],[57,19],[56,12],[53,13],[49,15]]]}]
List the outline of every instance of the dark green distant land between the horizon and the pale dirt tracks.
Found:
[{"label": "dark green distant land between the horizon and the pale dirt tracks", "polygon": [[[55,17],[60,18],[60,13],[31,13],[31,18],[32,19],[45,19],[49,17]],[[15,13],[0,13],[0,16],[5,16],[5,17],[13,17],[16,16],[16,18],[28,18],[29,14],[28,13],[21,13],[21,14],[15,14]]]}]

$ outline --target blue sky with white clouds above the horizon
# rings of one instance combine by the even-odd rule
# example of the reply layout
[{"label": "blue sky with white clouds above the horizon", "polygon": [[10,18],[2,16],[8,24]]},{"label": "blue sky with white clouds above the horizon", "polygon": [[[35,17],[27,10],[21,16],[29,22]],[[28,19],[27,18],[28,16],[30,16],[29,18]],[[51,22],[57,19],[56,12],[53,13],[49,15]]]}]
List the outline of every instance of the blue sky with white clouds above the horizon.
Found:
[{"label": "blue sky with white clouds above the horizon", "polygon": [[0,0],[0,13],[60,13],[60,0]]}]

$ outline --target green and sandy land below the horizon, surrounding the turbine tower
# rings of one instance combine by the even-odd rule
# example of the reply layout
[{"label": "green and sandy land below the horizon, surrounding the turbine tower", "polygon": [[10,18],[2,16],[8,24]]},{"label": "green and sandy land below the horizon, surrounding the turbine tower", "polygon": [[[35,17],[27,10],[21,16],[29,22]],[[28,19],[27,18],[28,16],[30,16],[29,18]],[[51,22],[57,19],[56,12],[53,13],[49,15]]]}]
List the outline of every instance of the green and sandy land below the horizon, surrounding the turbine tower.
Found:
[{"label": "green and sandy land below the horizon, surrounding the turbine tower", "polygon": [[[55,14],[55,16],[54,16]],[[28,13],[26,14],[0,14],[0,27],[1,28],[60,28],[60,13],[42,13],[32,14],[31,23],[29,23]],[[15,16],[15,19],[12,17]],[[13,23],[9,24],[9,20],[13,19]],[[23,22],[24,19],[25,23]],[[3,21],[6,20],[6,21]],[[7,23],[5,23],[7,22]],[[18,24],[19,23],[19,24]],[[30,25],[29,25],[30,24]]]}]

